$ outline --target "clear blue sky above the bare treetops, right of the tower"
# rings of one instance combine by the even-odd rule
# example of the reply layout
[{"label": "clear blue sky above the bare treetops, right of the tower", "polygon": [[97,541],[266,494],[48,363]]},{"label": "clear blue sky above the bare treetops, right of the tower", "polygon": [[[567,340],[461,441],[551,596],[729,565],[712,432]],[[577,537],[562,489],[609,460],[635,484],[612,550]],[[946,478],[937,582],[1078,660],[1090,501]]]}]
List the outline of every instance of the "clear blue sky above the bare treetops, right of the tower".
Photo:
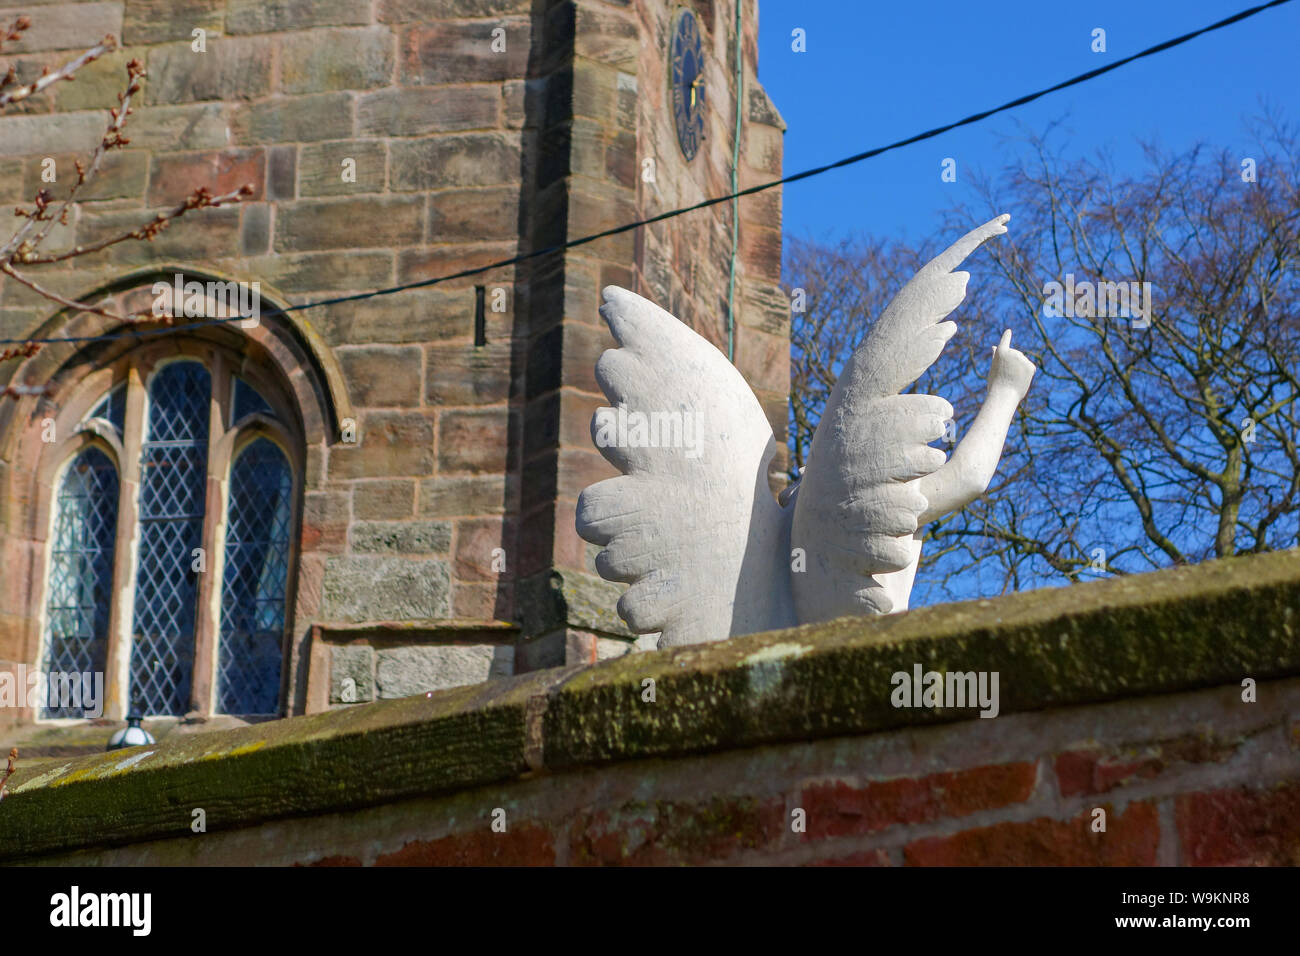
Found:
[{"label": "clear blue sky above the bare treetops, right of the tower", "polygon": [[[1095,69],[1231,16],[1252,0],[759,0],[759,79],[785,118],[785,172],[901,139]],[[807,52],[790,49],[806,31]],[[1106,52],[1091,51],[1092,30]],[[1062,121],[1075,155],[1140,166],[1138,140],[1196,142],[1251,155],[1243,120],[1262,104],[1300,120],[1300,3],[1265,10],[1171,51],[936,139],[785,187],[785,230],[868,232],[920,242],[972,199],[1011,138]],[[957,182],[940,181],[945,157]],[[1014,229],[1014,222],[1011,224]]]}]

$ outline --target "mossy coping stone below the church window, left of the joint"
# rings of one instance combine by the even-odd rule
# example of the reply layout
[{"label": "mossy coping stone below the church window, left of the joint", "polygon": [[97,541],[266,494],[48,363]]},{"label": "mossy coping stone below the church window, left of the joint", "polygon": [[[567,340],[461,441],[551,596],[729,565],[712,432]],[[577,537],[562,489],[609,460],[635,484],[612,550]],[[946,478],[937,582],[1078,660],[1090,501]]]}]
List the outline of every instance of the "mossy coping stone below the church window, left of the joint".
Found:
[{"label": "mossy coping stone below the church window, left of the joint", "polygon": [[0,860],[365,806],[515,779],[525,710],[554,672],[20,767]]}]

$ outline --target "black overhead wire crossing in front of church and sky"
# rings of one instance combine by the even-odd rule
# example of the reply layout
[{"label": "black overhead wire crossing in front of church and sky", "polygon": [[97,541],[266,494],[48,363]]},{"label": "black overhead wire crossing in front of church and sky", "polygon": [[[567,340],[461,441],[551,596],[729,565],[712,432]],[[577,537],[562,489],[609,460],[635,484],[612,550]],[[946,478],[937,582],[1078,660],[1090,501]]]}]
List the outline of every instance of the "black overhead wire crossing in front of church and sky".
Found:
[{"label": "black overhead wire crossing in front of church and sky", "polygon": [[[1165,40],[1164,43],[1157,43],[1154,47],[1148,47],[1147,49],[1141,51],[1140,53],[1134,53],[1132,56],[1126,56],[1122,60],[1115,60],[1114,62],[1106,64],[1105,66],[1098,66],[1095,70],[1088,70],[1087,73],[1080,73],[1079,75],[1071,77],[1070,79],[1066,79],[1066,81],[1062,81],[1062,82],[1057,83],[1056,86],[1049,86],[1049,87],[1046,87],[1044,90],[1039,90],[1037,92],[1031,92],[1031,94],[1026,94],[1024,96],[1018,96],[1017,99],[1009,100],[1009,101],[1004,103],[1000,107],[993,107],[992,109],[985,109],[985,111],[983,111],[980,113],[971,113],[970,116],[966,116],[966,117],[963,117],[961,120],[957,120],[954,122],[946,124],[944,126],[936,126],[935,129],[926,130],[924,133],[918,133],[918,134],[915,134],[913,137],[907,137],[906,139],[900,139],[897,142],[889,143],[888,146],[878,146],[874,150],[867,150],[864,152],[858,152],[858,153],[854,153],[853,156],[845,156],[844,159],[836,160],[835,163],[828,163],[824,166],[815,166],[812,169],[805,169],[801,173],[792,173],[790,176],[781,177],[780,179],[772,179],[771,182],[763,182],[763,183],[759,183],[758,186],[750,186],[748,189],[742,189],[738,193],[728,193],[724,196],[716,196],[714,199],[705,199],[703,202],[696,203],[694,206],[684,206],[680,209],[670,209],[668,212],[660,212],[659,215],[650,216],[649,219],[637,220],[636,222],[628,222],[628,224],[621,225],[621,226],[614,226],[612,229],[606,229],[606,230],[599,232],[599,233],[592,233],[590,235],[582,235],[582,237],[580,237],[577,239],[569,239],[568,242],[563,242],[563,243],[559,243],[559,245],[555,245],[555,246],[547,246],[546,248],[534,250],[532,252],[524,252],[523,255],[517,255],[517,256],[515,256],[512,259],[502,259],[500,261],[489,263],[488,265],[478,265],[478,267],[474,267],[472,269],[462,269],[460,272],[454,272],[454,273],[451,273],[448,276],[437,276],[434,278],[422,278],[422,280],[419,280],[417,282],[407,282],[404,285],[389,286],[386,289],[376,289],[376,290],[368,291],[368,293],[351,293],[348,295],[335,295],[335,297],[329,298],[329,299],[320,299],[317,302],[306,302],[306,303],[299,304],[299,306],[286,306],[283,308],[277,308],[274,311],[277,311],[277,312],[300,312],[300,311],[307,310],[307,308],[320,308],[322,306],[337,306],[337,304],[341,304],[343,302],[360,302],[363,299],[373,299],[373,298],[380,297],[380,295],[394,295],[396,293],[404,293],[404,291],[407,291],[410,289],[425,289],[425,287],[432,286],[432,285],[438,285],[439,282],[450,282],[451,280],[455,280],[455,278],[467,278],[469,276],[478,276],[478,274],[481,274],[484,272],[490,272],[491,269],[502,269],[502,268],[506,268],[508,265],[516,265],[519,263],[528,261],[529,259],[537,259],[540,256],[551,255],[554,252],[560,252],[560,251],[567,250],[567,248],[575,248],[577,246],[585,246],[586,243],[589,243],[589,242],[597,242],[598,239],[607,239],[611,235],[619,235],[621,233],[630,232],[632,229],[640,229],[641,226],[651,225],[654,222],[662,222],[662,221],[664,221],[667,219],[673,219],[676,216],[684,216],[688,212],[696,212],[697,209],[707,209],[710,206],[718,206],[719,203],[727,203],[727,202],[731,202],[732,199],[737,199],[740,196],[753,195],[755,193],[762,193],[764,190],[775,189],[777,186],[784,186],[784,185],[792,183],[792,182],[798,182],[801,179],[810,179],[814,176],[820,176],[822,173],[828,173],[832,169],[840,169],[842,166],[850,166],[850,165],[853,165],[855,163],[862,163],[863,160],[872,159],[874,156],[880,156],[881,153],[890,152],[893,150],[901,150],[905,146],[911,146],[913,143],[919,143],[919,142],[922,142],[924,139],[933,139],[935,137],[941,135],[944,133],[948,133],[950,130],[958,129],[959,126],[970,126],[971,124],[979,122],[980,120],[987,120],[988,117],[996,116],[997,113],[1004,113],[1008,109],[1014,109],[1015,107],[1023,107],[1026,103],[1032,103],[1034,100],[1041,99],[1043,96],[1046,96],[1048,94],[1053,94],[1053,92],[1057,92],[1060,90],[1065,90],[1065,88],[1071,87],[1071,86],[1078,86],[1079,83],[1086,83],[1087,81],[1095,79],[1095,78],[1097,78],[1097,77],[1100,77],[1100,75],[1102,75],[1105,73],[1110,73],[1112,70],[1118,70],[1121,66],[1126,66],[1127,64],[1131,64],[1135,60],[1141,60],[1143,57],[1154,56],[1156,53],[1161,53],[1161,52],[1164,52],[1166,49],[1173,49],[1174,47],[1182,46],[1183,43],[1187,43],[1188,40],[1193,40],[1193,39],[1196,39],[1197,36],[1200,36],[1202,34],[1213,33],[1214,30],[1222,30],[1226,26],[1231,26],[1232,23],[1238,23],[1238,22],[1240,22],[1243,20],[1247,20],[1249,17],[1256,16],[1257,13],[1262,13],[1264,10],[1268,10],[1268,9],[1273,8],[1273,7],[1280,7],[1282,4],[1288,4],[1288,3],[1291,3],[1291,0],[1269,0],[1269,3],[1260,4],[1258,7],[1251,7],[1249,9],[1242,10],[1240,13],[1234,13],[1231,17],[1226,17],[1226,18],[1218,21],[1217,23],[1210,23],[1209,26],[1202,26],[1200,30],[1193,30],[1191,33],[1183,34],[1182,36],[1175,36],[1171,40]],[[116,333],[107,333],[107,334],[103,334],[103,336],[81,336],[81,337],[66,337],[66,338],[0,338],[0,345],[27,345],[27,343],[55,345],[55,343],[60,343],[60,342],[100,342],[100,341],[109,341],[109,339],[116,339],[116,338],[127,338],[130,336],[140,336],[140,337],[143,337],[143,336],[151,336],[151,334],[153,334],[153,336],[162,336],[162,334],[172,334],[172,333],[176,333],[176,332],[187,332],[190,329],[202,329],[202,328],[205,328],[205,326],[209,326],[209,325],[225,325],[225,324],[233,323],[233,321],[244,321],[244,320],[251,319],[251,317],[252,316],[240,315],[240,316],[235,316],[235,317],[230,317],[230,319],[211,319],[211,320],[207,320],[207,321],[192,323],[192,324],[188,324],[188,325],[164,326],[161,329],[147,329],[144,332],[116,332]]]}]

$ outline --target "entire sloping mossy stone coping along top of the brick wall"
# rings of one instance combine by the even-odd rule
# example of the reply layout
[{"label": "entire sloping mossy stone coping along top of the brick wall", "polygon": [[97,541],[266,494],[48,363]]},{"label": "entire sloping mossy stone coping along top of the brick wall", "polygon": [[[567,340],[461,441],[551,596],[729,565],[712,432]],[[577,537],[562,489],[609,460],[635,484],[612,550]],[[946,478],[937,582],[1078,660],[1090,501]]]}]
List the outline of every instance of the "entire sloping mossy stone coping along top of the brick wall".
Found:
[{"label": "entire sloping mossy stone coping along top of the brick wall", "polygon": [[[1300,674],[1300,555],[850,618],[23,766],[0,858],[370,806],[645,757],[980,719],[896,672],[998,672],[1000,711]],[[654,701],[646,700],[653,680]],[[989,722],[991,727],[996,726]]]}]

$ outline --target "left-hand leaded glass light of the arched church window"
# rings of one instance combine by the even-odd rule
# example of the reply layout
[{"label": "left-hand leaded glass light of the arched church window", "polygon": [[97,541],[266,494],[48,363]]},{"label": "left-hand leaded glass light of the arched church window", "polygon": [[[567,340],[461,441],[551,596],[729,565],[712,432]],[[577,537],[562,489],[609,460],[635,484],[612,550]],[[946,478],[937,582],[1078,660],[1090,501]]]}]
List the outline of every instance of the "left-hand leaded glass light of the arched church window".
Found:
[{"label": "left-hand leaded glass light of the arched church window", "polygon": [[[108,613],[113,593],[113,541],[117,528],[117,468],[99,449],[73,459],[58,486],[49,598],[46,605],[46,675],[42,717],[86,717],[84,676],[103,689]],[[51,680],[53,678],[53,680]],[[64,680],[75,680],[75,685]],[[70,693],[61,692],[64,688]],[[95,709],[103,701],[94,701]],[[94,714],[92,714],[94,715]]]}]

